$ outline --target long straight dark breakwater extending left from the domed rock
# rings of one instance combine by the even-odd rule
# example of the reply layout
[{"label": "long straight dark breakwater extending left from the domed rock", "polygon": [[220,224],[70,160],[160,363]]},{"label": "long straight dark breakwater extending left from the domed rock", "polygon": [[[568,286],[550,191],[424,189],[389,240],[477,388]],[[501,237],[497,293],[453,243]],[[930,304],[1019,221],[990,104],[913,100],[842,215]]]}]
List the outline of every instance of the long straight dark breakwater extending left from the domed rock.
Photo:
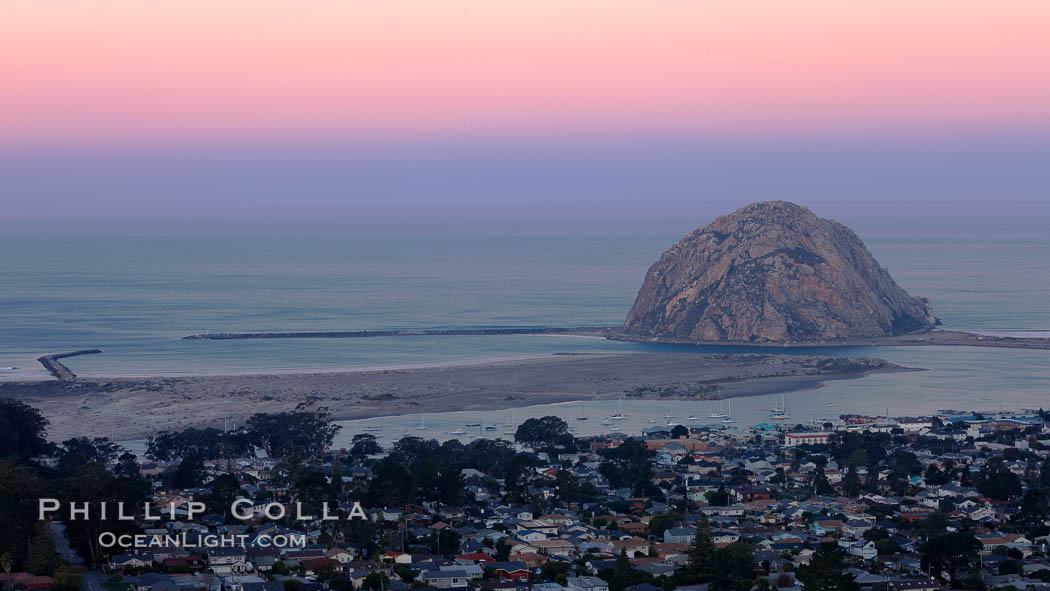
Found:
[{"label": "long straight dark breakwater extending left from the domed rock", "polygon": [[237,339],[358,339],[370,337],[444,337],[487,335],[593,335],[604,337],[618,326],[531,326],[504,329],[410,329],[403,331],[318,331],[292,333],[204,333],[191,340]]}]

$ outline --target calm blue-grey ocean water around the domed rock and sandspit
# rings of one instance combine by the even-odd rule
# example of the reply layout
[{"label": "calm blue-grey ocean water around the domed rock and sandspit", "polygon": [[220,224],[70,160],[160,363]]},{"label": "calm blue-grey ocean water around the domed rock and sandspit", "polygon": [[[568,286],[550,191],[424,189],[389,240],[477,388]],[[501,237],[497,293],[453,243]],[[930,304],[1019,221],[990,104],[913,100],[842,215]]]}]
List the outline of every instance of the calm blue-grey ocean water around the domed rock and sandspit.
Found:
[{"label": "calm blue-grey ocean water around the domed rock and sandspit", "polygon": [[[594,351],[741,351],[555,336],[181,338],[209,331],[615,325],[648,266],[678,237],[656,232],[0,237],[0,379],[46,378],[36,357],[88,347],[103,353],[66,361],[85,377],[406,367]],[[915,232],[862,238],[901,286],[933,301],[944,328],[1050,336],[1045,237]],[[979,402],[1050,407],[1047,351],[784,353],[876,356],[929,370],[828,382],[818,398],[834,400],[808,410],[805,401],[817,400],[815,395],[788,395],[800,417],[826,411],[828,403],[843,411],[897,414],[974,408]],[[766,398],[738,402],[740,413],[752,405],[765,411]]]}]

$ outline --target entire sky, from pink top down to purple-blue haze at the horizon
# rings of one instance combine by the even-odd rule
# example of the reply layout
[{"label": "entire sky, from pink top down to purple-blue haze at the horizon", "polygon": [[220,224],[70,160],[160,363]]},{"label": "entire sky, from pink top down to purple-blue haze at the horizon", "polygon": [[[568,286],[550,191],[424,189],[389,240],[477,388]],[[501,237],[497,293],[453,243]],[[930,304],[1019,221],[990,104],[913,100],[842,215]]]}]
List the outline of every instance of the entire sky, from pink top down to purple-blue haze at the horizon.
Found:
[{"label": "entire sky, from pink top down to purple-blue haze at the horizon", "polygon": [[1048,23],[1042,0],[6,0],[0,226],[695,226],[766,198],[1030,220]]}]

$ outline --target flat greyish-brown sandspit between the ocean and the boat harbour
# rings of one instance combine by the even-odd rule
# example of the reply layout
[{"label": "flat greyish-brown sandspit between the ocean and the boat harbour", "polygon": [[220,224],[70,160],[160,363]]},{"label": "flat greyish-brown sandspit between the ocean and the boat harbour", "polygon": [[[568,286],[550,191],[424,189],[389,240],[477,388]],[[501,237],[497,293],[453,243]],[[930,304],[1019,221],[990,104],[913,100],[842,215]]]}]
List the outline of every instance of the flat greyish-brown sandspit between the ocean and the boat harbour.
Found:
[{"label": "flat greyish-brown sandspit between the ocean and the boat harbour", "polygon": [[40,408],[48,437],[136,439],[243,422],[307,401],[337,419],[485,410],[571,400],[701,399],[806,389],[905,368],[879,359],[779,355],[554,355],[538,359],[352,373],[91,378],[0,382],[0,397]]}]

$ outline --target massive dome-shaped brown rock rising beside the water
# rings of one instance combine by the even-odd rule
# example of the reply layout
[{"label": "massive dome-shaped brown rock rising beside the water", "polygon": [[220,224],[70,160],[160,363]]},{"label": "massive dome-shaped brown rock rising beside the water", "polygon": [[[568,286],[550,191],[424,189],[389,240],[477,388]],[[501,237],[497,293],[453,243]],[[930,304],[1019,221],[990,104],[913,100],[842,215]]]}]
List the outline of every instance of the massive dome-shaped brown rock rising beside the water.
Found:
[{"label": "massive dome-shaped brown rock rising beside the water", "polygon": [[628,335],[799,342],[931,329],[852,230],[788,202],[752,204],[679,240],[648,273]]}]

